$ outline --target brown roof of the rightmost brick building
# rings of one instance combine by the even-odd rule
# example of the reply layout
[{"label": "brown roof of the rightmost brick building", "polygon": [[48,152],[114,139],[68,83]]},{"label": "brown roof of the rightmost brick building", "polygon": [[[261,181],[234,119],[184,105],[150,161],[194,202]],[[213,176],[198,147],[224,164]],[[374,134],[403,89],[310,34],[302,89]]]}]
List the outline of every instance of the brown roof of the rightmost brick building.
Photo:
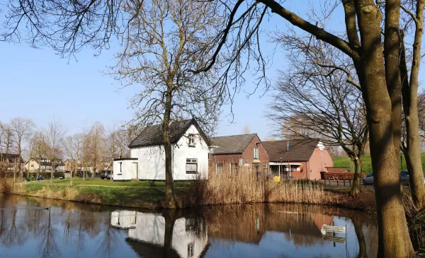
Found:
[{"label": "brown roof of the rightmost brick building", "polygon": [[[286,146],[288,141],[263,141],[263,146],[268,152],[270,161],[288,161],[288,152]],[[314,149],[317,146],[316,141],[310,140],[290,140],[289,141],[289,161],[305,161],[310,160]]]}]

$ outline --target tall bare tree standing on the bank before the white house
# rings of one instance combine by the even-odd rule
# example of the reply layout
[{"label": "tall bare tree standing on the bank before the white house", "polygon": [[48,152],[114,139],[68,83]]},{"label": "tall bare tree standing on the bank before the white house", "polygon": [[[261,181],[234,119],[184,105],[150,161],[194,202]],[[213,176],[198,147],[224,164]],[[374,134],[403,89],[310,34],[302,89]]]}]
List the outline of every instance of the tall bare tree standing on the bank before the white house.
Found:
[{"label": "tall bare tree standing on the bank before the white house", "polygon": [[[133,18],[125,49],[117,55],[113,73],[118,80],[142,85],[132,99],[137,112],[133,123],[162,125],[166,168],[164,206],[176,207],[169,126],[173,120],[196,117],[205,130],[213,128],[220,111],[223,88],[215,75],[194,76],[188,70],[203,66],[200,50],[216,33],[220,21],[212,2],[190,0],[128,1],[125,11]],[[165,29],[166,28],[166,29]]]}]

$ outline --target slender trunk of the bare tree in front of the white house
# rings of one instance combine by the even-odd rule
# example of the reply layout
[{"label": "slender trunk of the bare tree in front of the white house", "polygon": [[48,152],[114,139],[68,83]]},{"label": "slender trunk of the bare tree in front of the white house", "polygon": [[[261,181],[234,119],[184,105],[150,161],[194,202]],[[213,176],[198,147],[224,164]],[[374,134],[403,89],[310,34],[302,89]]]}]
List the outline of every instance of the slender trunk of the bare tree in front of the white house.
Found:
[{"label": "slender trunk of the bare tree in front of the white house", "polygon": [[169,137],[169,124],[171,117],[171,87],[166,93],[166,104],[164,112],[164,120],[162,121],[162,134],[164,137],[164,150],[165,150],[165,198],[164,208],[176,209],[176,193],[174,192],[174,179],[173,179],[173,152],[171,150],[171,143]]}]

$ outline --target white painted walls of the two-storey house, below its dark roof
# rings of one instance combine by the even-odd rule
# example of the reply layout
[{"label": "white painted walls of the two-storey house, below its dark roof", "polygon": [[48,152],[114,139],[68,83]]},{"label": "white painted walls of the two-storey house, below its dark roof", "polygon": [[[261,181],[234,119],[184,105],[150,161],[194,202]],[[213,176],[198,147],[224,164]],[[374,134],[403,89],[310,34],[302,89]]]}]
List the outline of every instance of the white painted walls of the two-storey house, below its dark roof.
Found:
[{"label": "white painted walls of the two-storey house, below its dark roof", "polygon": [[[195,135],[195,147],[188,146],[189,134]],[[198,135],[198,129],[191,125],[185,136],[173,146],[173,177],[174,180],[193,180],[197,175],[186,174],[186,158],[198,159],[198,173],[201,178],[208,178],[208,145]],[[132,148],[131,158],[137,158],[140,180],[165,180],[164,146],[147,146]],[[115,163],[114,163],[115,175]],[[115,177],[114,177],[115,180]]]}]

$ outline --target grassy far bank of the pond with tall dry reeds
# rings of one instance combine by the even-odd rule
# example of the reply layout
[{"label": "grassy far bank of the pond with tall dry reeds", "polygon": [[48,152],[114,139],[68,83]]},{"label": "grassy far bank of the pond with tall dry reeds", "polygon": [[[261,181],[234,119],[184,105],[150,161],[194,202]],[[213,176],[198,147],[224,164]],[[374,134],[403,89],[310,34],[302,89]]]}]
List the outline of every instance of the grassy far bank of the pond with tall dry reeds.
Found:
[{"label": "grassy far bank of the pond with tall dry reeds", "polygon": [[[175,188],[181,207],[268,202],[328,204],[365,211],[374,208],[374,203],[364,201],[368,198],[362,197],[358,202],[351,200],[344,192],[348,188],[329,191],[318,182],[303,180],[273,182],[248,175],[215,176],[208,181],[176,182]],[[162,207],[165,183],[74,180],[71,187],[69,180],[55,180],[54,184],[48,180],[18,184],[1,180],[0,192],[87,204],[158,209]],[[373,192],[363,194],[373,197]]]}]

